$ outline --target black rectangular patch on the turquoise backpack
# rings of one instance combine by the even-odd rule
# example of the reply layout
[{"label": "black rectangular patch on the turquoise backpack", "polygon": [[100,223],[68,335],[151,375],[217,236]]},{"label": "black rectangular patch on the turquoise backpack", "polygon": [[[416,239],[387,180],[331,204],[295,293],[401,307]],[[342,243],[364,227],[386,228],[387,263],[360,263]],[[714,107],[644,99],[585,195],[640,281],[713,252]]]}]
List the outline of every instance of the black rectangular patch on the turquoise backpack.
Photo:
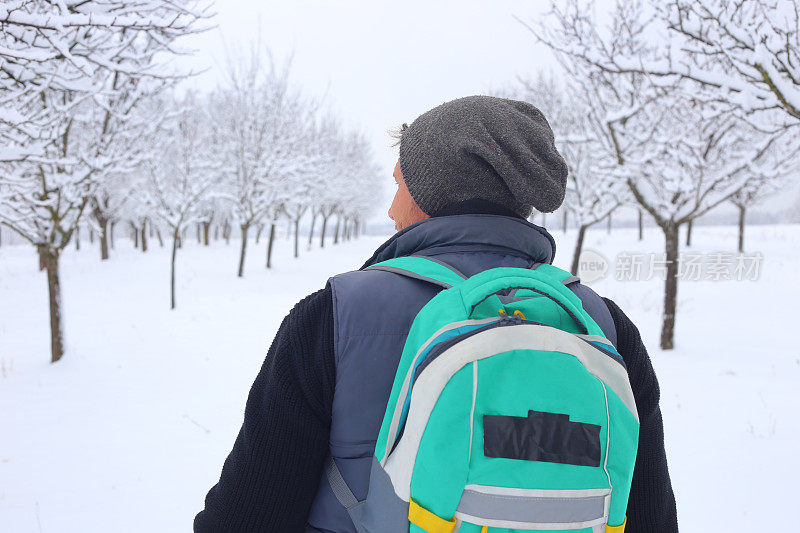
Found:
[{"label": "black rectangular patch on the turquoise backpack", "polygon": [[569,415],[528,411],[527,417],[483,415],[486,457],[600,466],[600,426]]}]

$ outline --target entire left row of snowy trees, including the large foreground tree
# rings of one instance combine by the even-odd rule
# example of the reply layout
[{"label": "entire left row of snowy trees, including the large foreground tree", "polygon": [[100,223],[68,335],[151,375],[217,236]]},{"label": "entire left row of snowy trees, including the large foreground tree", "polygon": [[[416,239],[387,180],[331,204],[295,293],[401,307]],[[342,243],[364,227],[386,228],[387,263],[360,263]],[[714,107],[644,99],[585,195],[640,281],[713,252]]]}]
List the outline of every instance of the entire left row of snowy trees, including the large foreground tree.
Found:
[{"label": "entire left row of snowy trees, including the large foreground tree", "polygon": [[176,96],[191,75],[171,66],[182,38],[211,17],[205,0],[0,5],[0,224],[47,272],[52,361],[64,353],[59,258],[81,224],[104,259],[115,222],[168,232],[174,307],[190,225],[225,217],[246,235],[309,211],[361,220],[374,204],[366,142],[291,89],[288,67],[254,51],[212,94]]}]

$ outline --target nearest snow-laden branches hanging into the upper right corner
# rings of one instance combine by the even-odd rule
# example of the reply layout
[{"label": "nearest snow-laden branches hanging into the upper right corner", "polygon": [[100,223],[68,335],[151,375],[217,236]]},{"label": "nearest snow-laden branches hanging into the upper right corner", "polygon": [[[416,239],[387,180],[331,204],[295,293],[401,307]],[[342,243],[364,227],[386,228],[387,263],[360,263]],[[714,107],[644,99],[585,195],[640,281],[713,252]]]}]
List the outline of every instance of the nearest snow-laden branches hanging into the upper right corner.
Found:
[{"label": "nearest snow-laden branches hanging into the upper right corner", "polygon": [[[797,2],[670,0],[652,4],[673,43],[662,66],[645,63],[639,68],[695,82],[698,89],[707,89],[709,98],[719,98],[713,93],[721,90],[744,116],[782,111],[787,115],[781,121],[784,126],[800,123]],[[773,126],[774,116],[766,120],[759,124]]]}]

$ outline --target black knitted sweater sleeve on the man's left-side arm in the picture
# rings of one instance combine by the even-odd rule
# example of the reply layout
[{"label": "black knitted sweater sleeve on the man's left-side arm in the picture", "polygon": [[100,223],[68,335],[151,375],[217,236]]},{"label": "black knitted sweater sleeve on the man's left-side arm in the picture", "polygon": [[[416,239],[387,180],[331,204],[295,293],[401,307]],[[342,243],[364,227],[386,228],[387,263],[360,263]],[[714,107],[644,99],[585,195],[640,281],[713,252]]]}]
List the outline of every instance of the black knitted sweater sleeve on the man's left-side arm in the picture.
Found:
[{"label": "black knitted sweater sleeve on the man's left-side arm in the picture", "polygon": [[295,305],[278,329],[195,532],[305,531],[328,452],[334,373],[326,287]]}]

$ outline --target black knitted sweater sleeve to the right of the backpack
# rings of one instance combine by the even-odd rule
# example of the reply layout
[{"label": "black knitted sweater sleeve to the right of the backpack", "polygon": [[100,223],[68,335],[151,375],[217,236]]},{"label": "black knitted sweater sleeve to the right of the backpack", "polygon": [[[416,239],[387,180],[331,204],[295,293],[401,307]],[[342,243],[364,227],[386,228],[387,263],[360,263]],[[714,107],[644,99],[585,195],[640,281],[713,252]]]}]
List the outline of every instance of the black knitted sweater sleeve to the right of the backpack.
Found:
[{"label": "black knitted sweater sleeve to the right of the backpack", "polygon": [[603,300],[617,328],[617,348],[628,368],[640,420],[625,533],[674,533],[678,518],[664,450],[658,380],[639,330],[617,304]]}]

